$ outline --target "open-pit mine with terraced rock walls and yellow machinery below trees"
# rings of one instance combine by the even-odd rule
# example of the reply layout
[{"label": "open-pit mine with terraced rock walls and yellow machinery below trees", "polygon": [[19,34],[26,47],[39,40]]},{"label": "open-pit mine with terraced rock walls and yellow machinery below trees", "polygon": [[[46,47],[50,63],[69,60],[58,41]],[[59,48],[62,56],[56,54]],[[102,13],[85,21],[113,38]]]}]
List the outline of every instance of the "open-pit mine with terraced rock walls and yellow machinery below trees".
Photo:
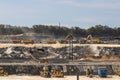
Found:
[{"label": "open-pit mine with terraced rock walls and yellow machinery below trees", "polygon": [[1,39],[0,80],[119,80],[119,43],[92,35],[74,40],[69,34],[46,43],[21,36]]}]

